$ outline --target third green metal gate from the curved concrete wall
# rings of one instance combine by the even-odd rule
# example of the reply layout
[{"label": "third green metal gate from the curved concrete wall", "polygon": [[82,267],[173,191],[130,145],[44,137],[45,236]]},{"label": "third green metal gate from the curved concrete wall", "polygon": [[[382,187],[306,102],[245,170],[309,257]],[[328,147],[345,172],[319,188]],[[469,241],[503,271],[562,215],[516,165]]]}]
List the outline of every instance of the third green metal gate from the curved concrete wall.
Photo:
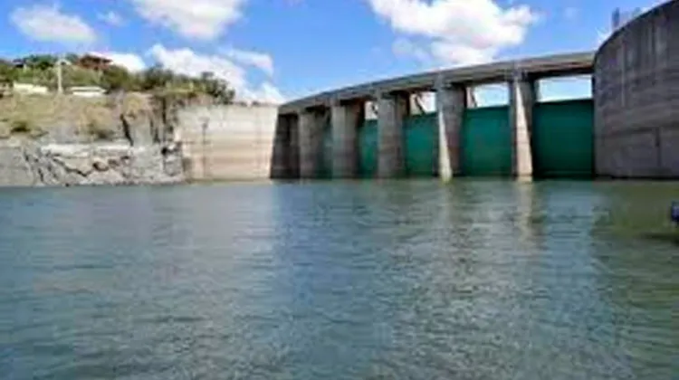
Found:
[{"label": "third green metal gate from the curved concrete wall", "polygon": [[407,177],[431,177],[435,175],[435,157],[438,143],[436,113],[407,118],[404,122],[404,160]]}]

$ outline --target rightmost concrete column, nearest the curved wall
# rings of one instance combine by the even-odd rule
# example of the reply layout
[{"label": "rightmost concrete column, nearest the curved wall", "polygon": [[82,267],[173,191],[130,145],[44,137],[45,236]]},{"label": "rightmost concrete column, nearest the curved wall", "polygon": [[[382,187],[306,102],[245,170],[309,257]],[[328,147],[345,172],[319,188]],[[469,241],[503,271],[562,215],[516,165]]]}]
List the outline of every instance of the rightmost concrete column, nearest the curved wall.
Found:
[{"label": "rightmost concrete column, nearest the curved wall", "polygon": [[508,87],[513,137],[512,171],[517,178],[530,181],[533,176],[531,134],[532,110],[536,99],[535,82],[515,75]]}]

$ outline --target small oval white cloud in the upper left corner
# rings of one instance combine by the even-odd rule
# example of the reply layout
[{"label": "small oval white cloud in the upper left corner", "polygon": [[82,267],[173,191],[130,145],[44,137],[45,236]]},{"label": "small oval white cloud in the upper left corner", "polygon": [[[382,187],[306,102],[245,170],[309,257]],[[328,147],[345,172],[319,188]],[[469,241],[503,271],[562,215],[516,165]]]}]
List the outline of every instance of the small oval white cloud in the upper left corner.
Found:
[{"label": "small oval white cloud in the upper left corner", "polygon": [[56,5],[19,7],[10,19],[21,33],[36,41],[89,44],[97,39],[90,25],[77,15],[63,14]]}]

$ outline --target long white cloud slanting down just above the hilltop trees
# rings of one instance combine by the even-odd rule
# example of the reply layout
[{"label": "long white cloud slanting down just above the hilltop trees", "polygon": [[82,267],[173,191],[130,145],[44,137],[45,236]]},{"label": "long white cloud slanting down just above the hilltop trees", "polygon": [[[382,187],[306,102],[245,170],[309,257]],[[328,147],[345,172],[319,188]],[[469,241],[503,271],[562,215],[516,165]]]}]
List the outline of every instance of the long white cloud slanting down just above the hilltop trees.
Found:
[{"label": "long white cloud slanting down just above the hilltop trees", "polygon": [[246,78],[247,71],[226,56],[199,54],[187,48],[170,50],[161,44],[154,45],[149,54],[166,69],[185,75],[199,76],[206,71],[214,73],[216,78],[227,81],[235,90],[236,99],[272,103],[284,101],[280,90],[273,84],[263,82],[253,86],[249,83]]}]

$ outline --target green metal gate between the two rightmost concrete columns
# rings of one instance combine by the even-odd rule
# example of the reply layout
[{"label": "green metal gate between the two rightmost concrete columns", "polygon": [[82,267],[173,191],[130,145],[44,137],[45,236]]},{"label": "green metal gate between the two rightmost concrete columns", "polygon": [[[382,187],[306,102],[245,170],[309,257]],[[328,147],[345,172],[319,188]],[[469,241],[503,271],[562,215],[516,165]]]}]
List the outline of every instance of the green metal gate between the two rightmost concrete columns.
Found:
[{"label": "green metal gate between the two rightmost concrete columns", "polygon": [[464,176],[512,176],[508,106],[465,110],[460,140]]}]

